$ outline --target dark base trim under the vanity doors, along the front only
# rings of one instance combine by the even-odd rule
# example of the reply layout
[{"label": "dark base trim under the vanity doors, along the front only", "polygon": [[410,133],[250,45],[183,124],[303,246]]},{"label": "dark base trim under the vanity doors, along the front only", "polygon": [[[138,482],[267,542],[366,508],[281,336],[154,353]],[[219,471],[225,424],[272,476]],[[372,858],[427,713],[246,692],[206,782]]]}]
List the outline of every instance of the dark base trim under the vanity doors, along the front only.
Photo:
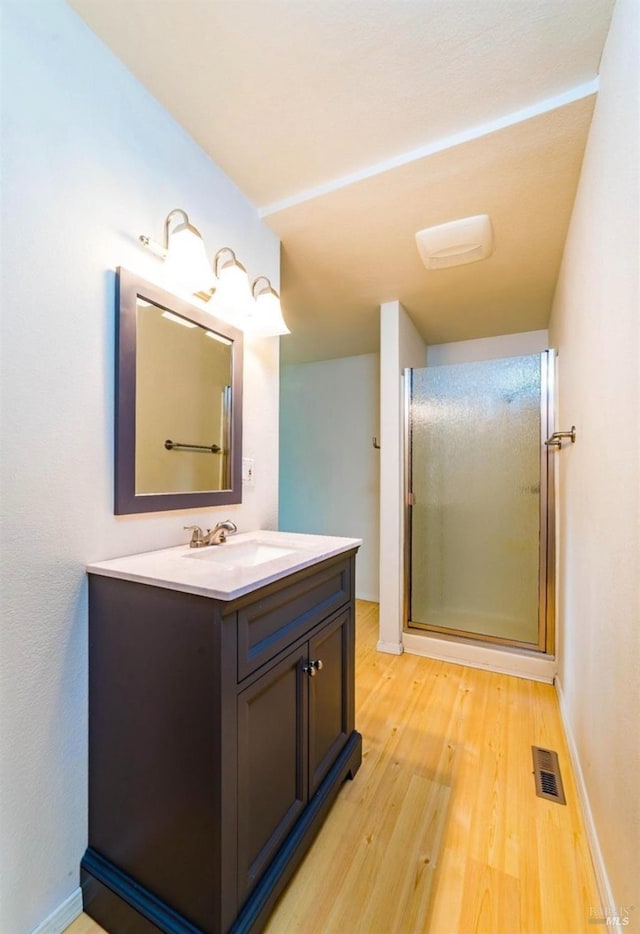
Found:
[{"label": "dark base trim under the vanity doors, along the front only", "polygon": [[262,930],[278,896],[313,843],[342,783],[355,776],[361,762],[362,736],[354,730],[277,856],[245,902],[229,934],[256,934]]}]

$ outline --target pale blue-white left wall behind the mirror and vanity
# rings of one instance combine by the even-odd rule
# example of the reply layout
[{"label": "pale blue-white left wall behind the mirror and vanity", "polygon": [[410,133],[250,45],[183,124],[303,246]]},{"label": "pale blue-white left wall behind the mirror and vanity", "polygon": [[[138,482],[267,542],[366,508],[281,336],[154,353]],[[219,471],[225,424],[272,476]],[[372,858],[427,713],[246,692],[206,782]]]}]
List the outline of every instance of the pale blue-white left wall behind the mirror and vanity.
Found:
[{"label": "pale blue-white left wall behind the mirror and vanity", "polygon": [[[113,516],[114,269],[156,277],[137,236],[159,237],[178,206],[211,255],[234,247],[274,282],[279,245],[61,0],[2,15],[0,931],[26,934],[77,893],[87,842],[84,566],[214,518]],[[224,512],[273,527],[277,341],[249,346],[245,367],[256,483]]]}]

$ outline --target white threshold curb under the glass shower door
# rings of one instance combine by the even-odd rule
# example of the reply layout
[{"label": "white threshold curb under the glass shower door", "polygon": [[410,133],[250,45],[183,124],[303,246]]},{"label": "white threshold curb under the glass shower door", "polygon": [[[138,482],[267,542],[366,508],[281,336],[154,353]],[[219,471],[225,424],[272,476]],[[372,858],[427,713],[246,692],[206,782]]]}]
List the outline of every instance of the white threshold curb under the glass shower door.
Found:
[{"label": "white threshold curb under the glass shower door", "polygon": [[405,652],[411,655],[423,655],[425,658],[436,658],[455,665],[468,665],[470,668],[482,668],[498,674],[514,675],[516,678],[528,678],[530,681],[543,681],[546,684],[553,684],[558,671],[555,658],[546,655],[492,649],[483,645],[435,639],[432,636],[414,635],[409,632],[403,634],[402,644]]}]

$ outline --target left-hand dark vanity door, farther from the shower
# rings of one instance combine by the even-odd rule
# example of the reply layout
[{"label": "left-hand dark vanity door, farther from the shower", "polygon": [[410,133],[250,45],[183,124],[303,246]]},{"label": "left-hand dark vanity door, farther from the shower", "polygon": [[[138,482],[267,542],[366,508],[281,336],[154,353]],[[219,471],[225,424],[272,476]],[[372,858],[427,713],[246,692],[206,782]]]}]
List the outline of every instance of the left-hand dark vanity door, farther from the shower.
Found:
[{"label": "left-hand dark vanity door, farther from the shower", "polygon": [[305,644],[238,695],[238,897],[258,881],[307,802]]}]

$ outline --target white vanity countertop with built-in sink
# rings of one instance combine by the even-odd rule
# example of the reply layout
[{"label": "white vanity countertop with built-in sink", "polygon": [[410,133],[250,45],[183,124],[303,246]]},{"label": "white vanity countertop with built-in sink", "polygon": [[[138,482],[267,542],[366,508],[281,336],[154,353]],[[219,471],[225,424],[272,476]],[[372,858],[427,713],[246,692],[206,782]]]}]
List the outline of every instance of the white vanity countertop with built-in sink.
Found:
[{"label": "white vanity countertop with built-in sink", "polygon": [[[234,548],[242,545],[246,549],[251,547],[251,543],[284,549],[288,553],[253,567],[234,566]],[[174,548],[98,561],[89,564],[87,571],[217,600],[233,600],[324,561],[325,558],[358,548],[361,544],[361,538],[261,530],[230,535],[223,545],[208,545],[205,548],[177,545]],[[215,555],[207,557],[207,553],[212,551],[215,551]]]}]

